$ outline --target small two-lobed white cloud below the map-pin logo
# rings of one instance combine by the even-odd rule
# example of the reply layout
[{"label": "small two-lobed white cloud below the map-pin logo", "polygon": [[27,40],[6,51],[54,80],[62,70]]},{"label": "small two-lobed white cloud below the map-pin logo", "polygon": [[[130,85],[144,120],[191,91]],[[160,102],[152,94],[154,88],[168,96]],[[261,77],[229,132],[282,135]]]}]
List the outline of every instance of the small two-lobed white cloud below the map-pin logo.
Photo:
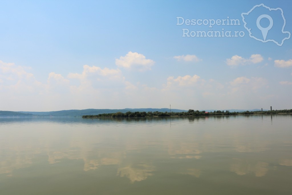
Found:
[{"label": "small two-lobed white cloud below the map-pin logo", "polygon": [[263,57],[260,54],[252,54],[250,58],[246,59],[241,56],[235,55],[226,59],[226,64],[230,66],[256,64],[263,61]]}]

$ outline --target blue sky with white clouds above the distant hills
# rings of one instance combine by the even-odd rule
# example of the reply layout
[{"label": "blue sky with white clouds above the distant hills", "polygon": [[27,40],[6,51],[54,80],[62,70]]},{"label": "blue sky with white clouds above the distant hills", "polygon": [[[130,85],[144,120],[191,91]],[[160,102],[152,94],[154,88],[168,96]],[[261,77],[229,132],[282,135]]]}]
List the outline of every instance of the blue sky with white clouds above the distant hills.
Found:
[{"label": "blue sky with white clouds above the distant hills", "polygon": [[292,1],[0,5],[0,110],[292,108]]}]

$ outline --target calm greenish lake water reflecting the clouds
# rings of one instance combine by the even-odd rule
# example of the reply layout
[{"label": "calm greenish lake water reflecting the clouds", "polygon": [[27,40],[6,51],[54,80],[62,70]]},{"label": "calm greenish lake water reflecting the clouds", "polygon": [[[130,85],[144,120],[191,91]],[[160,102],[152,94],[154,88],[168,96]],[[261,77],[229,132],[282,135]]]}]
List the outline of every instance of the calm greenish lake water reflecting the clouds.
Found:
[{"label": "calm greenish lake water reflecting the clouds", "polygon": [[292,115],[0,118],[0,194],[292,193]]}]

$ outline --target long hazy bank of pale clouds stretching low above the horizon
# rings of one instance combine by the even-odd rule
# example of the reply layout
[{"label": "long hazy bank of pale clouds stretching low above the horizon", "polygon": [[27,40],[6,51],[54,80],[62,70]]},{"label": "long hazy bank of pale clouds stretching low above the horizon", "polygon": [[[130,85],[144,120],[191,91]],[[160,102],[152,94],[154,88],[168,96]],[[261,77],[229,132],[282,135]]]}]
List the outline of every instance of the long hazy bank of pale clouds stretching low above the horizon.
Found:
[{"label": "long hazy bank of pale clouds stretching low above the horizon", "polygon": [[[251,59],[253,62],[257,61],[256,57],[251,57]],[[80,72],[69,73],[67,77],[51,72],[47,80],[40,83],[30,73],[29,68],[0,61],[0,101],[7,102],[2,106],[2,109],[6,110],[159,108],[164,107],[165,104],[171,104],[171,107],[177,104],[174,107],[181,109],[199,110],[226,109],[227,107],[231,109],[238,106],[256,108],[259,104],[269,105],[270,101],[277,102],[278,99],[281,100],[281,97],[287,97],[287,95],[269,96],[273,92],[267,90],[269,87],[267,80],[248,75],[234,77],[234,80],[228,80],[223,83],[224,85],[220,83],[220,80],[206,76],[203,79],[194,74],[164,77],[164,83],[135,82],[132,84],[126,80],[118,68],[89,65],[84,65]],[[276,83],[276,86],[280,84],[291,86],[292,83],[281,81]],[[286,103],[287,99],[291,101],[288,97],[283,102]]]}]

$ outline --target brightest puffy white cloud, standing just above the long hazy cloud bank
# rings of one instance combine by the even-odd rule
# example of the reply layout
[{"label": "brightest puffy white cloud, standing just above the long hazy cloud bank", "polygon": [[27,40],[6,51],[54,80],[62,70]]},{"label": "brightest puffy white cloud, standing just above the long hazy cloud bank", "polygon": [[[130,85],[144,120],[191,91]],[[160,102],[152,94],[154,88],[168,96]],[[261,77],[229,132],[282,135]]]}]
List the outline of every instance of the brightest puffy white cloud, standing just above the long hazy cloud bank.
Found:
[{"label": "brightest puffy white cloud, standing just above the long hazy cloud bank", "polygon": [[138,71],[151,70],[151,66],[154,65],[154,61],[146,59],[143,54],[129,51],[126,56],[121,56],[116,59],[116,65],[126,69],[133,69]]}]

